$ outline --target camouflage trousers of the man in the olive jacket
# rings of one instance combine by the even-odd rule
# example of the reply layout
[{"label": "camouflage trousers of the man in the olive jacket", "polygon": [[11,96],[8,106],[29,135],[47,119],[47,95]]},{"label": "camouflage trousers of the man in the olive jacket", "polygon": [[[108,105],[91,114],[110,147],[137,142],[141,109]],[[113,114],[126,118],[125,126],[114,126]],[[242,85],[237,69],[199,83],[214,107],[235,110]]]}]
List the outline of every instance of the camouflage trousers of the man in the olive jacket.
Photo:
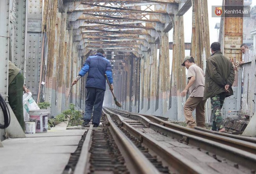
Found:
[{"label": "camouflage trousers of the man in the olive jacket", "polygon": [[220,93],[211,97],[211,118],[212,118],[213,131],[224,128],[221,108],[223,106],[225,97],[226,97],[225,93]]}]

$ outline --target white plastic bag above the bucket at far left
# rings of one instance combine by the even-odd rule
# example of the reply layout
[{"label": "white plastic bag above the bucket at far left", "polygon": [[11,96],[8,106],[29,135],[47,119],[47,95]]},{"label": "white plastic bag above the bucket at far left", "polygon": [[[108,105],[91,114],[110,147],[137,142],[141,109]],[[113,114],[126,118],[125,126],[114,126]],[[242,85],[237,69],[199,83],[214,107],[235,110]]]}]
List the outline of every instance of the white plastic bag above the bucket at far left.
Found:
[{"label": "white plastic bag above the bucket at far left", "polygon": [[24,122],[29,121],[29,111],[40,109],[32,97],[32,93],[23,94],[23,115]]}]

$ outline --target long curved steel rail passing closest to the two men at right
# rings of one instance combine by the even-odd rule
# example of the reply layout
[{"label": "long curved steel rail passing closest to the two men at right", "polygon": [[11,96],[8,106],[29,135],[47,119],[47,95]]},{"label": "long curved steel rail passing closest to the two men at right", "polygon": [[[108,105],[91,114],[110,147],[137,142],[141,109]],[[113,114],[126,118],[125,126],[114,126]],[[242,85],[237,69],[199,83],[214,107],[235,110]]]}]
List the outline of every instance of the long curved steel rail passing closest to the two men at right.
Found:
[{"label": "long curved steel rail passing closest to the two men at right", "polygon": [[[118,111],[117,109],[114,109],[114,110]],[[215,135],[212,132],[205,132],[205,131],[200,131],[196,129],[190,129],[177,124],[169,123],[164,120],[161,120],[160,118],[154,117],[152,115],[133,114],[133,113],[130,113],[127,111],[121,111],[121,110],[119,110],[118,112],[129,115],[130,117],[135,117],[135,115],[137,116],[141,115],[143,117],[148,118],[149,120],[151,120],[156,124],[160,124],[167,128],[171,128],[172,130],[182,131],[190,135],[195,135],[197,137],[208,139],[217,143],[225,144],[228,146],[232,146],[234,148],[238,148],[240,150],[250,152],[252,154],[256,154],[256,143],[252,143],[252,141],[247,141],[248,139],[245,137],[241,137],[237,135],[233,135],[231,137],[228,133],[221,133],[219,135]]]}]

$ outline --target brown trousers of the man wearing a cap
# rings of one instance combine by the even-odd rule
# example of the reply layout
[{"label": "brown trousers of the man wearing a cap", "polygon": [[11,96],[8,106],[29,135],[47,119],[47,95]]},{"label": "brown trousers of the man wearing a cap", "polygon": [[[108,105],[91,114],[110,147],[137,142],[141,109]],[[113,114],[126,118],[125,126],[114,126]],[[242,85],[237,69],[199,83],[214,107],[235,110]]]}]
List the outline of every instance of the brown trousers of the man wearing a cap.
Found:
[{"label": "brown trousers of the man wearing a cap", "polygon": [[[186,123],[190,127],[198,126],[203,128],[205,126],[204,117],[205,100],[202,97],[189,97],[184,105],[184,116]],[[192,112],[196,109],[196,121],[193,119]]]}]

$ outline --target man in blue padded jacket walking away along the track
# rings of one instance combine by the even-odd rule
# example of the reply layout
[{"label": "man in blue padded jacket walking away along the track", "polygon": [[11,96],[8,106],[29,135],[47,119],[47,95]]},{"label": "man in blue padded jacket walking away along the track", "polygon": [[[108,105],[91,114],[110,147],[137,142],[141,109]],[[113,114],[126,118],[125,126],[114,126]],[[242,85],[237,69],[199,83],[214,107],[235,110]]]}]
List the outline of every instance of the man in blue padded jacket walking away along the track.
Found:
[{"label": "man in blue padded jacket walking away along the track", "polygon": [[[85,101],[85,115],[83,116],[83,125],[89,124],[91,113],[93,111],[93,127],[98,127],[102,113],[102,104],[106,91],[105,74],[108,76],[111,84],[110,91],[113,91],[113,77],[111,63],[104,57],[104,50],[98,49],[95,56],[89,56],[76,79],[72,82],[75,85],[78,80],[88,72],[86,89],[87,96]],[[93,110],[94,107],[94,110]]]}]

